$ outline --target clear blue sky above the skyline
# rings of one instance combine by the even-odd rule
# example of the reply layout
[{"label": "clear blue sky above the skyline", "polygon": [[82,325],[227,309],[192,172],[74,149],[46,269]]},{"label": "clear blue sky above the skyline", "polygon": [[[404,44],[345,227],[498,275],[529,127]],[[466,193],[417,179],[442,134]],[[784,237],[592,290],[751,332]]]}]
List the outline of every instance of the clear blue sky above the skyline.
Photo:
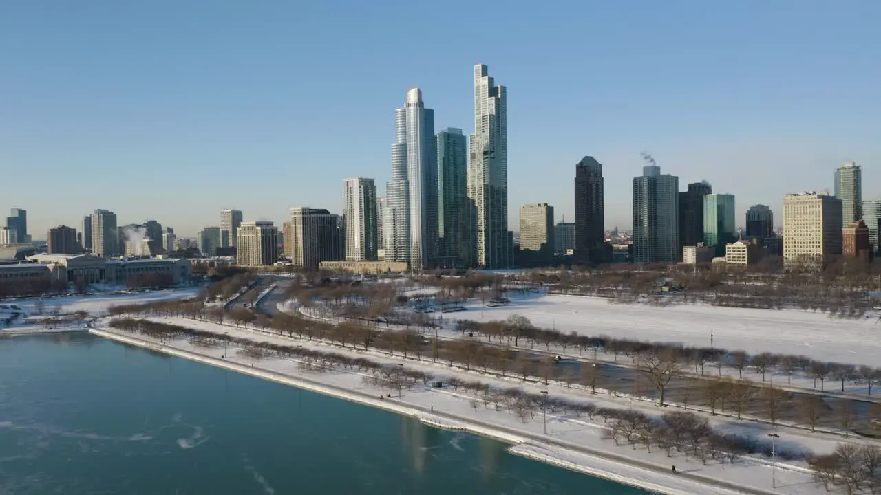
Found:
[{"label": "clear blue sky above the skyline", "polygon": [[508,87],[509,203],[573,215],[574,163],[631,227],[640,151],[781,224],[782,196],[855,159],[879,197],[881,2],[0,4],[0,213],[41,238],[95,208],[192,235],[234,207],[278,225],[390,174],[394,108],[474,127],[472,66]]}]

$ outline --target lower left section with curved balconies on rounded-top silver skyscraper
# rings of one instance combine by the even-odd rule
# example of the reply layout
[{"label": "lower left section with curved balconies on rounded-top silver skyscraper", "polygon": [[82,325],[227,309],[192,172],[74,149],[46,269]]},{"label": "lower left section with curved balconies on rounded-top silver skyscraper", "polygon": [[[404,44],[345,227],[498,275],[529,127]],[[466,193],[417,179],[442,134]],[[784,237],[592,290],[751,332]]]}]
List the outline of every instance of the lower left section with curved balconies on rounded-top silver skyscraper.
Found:
[{"label": "lower left section with curved balconies on rounded-top silver skyscraper", "polygon": [[410,181],[407,180],[407,111],[395,109],[395,143],[391,145],[391,181],[382,212],[385,259],[410,261]]}]

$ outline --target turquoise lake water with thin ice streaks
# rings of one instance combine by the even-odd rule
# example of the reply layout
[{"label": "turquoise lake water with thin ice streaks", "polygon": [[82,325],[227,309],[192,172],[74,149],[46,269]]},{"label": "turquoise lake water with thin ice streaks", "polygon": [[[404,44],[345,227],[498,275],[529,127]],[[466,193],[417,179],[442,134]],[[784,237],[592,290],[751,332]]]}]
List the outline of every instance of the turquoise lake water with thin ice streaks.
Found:
[{"label": "turquoise lake water with thin ice streaks", "polygon": [[644,494],[96,336],[0,339],[0,493]]}]

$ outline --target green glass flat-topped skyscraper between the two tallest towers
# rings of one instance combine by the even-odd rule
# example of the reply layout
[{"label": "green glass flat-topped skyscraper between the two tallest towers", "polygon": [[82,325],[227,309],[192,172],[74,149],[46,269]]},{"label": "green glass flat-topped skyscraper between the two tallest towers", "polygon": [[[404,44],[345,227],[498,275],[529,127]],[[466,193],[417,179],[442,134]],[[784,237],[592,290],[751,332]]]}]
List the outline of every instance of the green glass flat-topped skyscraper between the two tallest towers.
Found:
[{"label": "green glass flat-topped skyscraper between the two tallest towers", "polygon": [[437,135],[438,266],[445,268],[467,268],[473,263],[467,148],[462,129],[443,129]]}]

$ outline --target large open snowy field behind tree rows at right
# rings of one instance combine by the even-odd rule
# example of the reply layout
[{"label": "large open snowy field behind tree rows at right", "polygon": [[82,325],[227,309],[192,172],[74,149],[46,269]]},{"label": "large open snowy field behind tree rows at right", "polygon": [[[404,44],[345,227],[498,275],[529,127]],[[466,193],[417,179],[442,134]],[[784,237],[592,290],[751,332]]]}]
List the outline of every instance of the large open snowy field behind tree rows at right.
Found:
[{"label": "large open snowy field behind tree rows at right", "polygon": [[841,320],[796,309],[772,310],[705,305],[609,304],[607,299],[559,294],[512,298],[506,307],[472,301],[446,320],[504,320],[522,314],[533,325],[586,336],[612,336],[692,346],[713,345],[750,354],[773,352],[821,361],[881,366],[877,318]]}]

